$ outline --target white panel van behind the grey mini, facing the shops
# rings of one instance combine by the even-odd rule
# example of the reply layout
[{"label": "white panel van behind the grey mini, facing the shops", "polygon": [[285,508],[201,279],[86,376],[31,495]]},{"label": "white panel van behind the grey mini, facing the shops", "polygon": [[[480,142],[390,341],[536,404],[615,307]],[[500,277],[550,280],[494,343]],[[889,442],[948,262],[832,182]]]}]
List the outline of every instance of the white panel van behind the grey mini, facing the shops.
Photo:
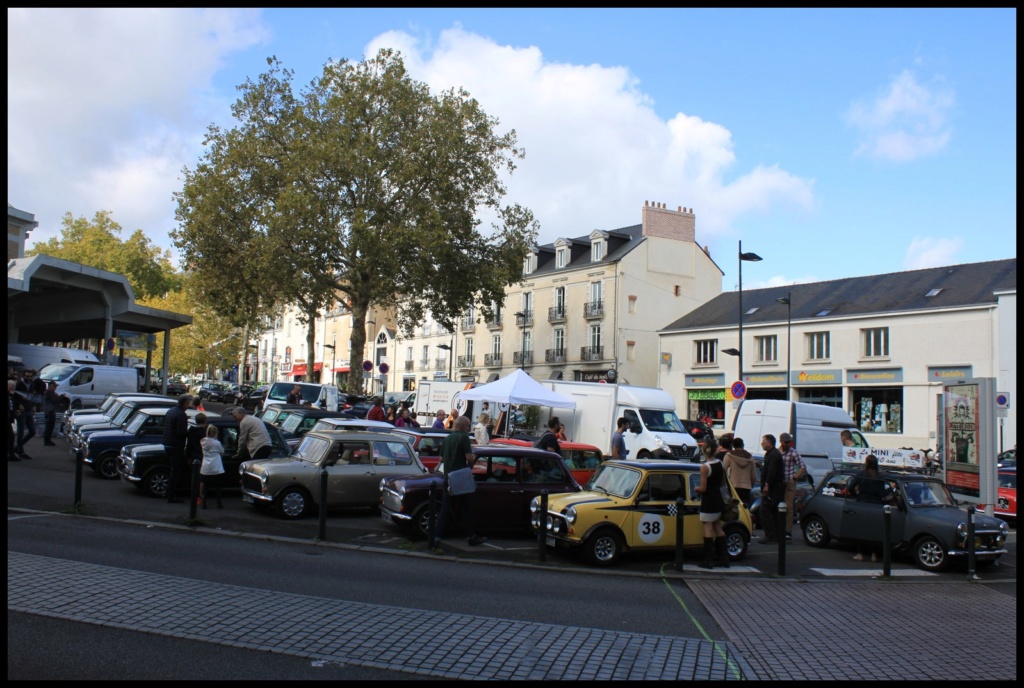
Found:
[{"label": "white panel van behind the grey mini, facing the shops", "polygon": [[748,451],[764,457],[761,438],[793,435],[797,451],[807,465],[807,472],[818,484],[825,473],[843,461],[843,440],[840,433],[849,430],[854,446],[867,446],[850,415],[842,408],[820,403],[784,401],[781,399],[743,399],[732,423],[732,433],[742,437]]}]

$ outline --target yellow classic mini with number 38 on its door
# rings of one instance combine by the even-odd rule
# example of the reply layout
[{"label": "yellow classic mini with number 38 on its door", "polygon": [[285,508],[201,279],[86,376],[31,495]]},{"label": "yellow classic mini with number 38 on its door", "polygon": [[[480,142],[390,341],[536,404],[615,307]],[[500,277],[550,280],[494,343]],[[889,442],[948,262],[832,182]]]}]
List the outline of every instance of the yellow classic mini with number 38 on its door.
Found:
[{"label": "yellow classic mini with number 38 on its door", "polygon": [[[703,545],[703,527],[697,515],[699,484],[700,464],[655,459],[608,461],[584,491],[551,496],[547,514],[541,513],[541,498],[535,498],[530,524],[535,532],[545,530],[548,547],[581,550],[590,563],[606,566],[631,550],[675,549],[676,514],[681,508],[683,547],[699,548]],[[735,561],[746,554],[752,524],[750,512],[731,484],[729,492],[738,504],[739,515],[723,525],[729,559]]]}]

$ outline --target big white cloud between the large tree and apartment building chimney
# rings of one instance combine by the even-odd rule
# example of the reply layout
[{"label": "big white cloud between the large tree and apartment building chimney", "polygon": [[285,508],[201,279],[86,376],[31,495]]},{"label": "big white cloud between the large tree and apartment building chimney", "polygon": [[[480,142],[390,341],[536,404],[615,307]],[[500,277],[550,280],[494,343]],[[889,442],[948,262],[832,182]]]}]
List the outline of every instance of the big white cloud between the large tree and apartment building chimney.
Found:
[{"label": "big white cloud between the large tree and apartment building chimney", "polygon": [[402,32],[372,41],[399,50],[434,91],[464,87],[514,128],[526,150],[508,181],[509,200],[529,207],[541,242],[594,228],[638,224],[644,201],[694,208],[697,241],[733,232],[733,222],[776,206],[807,211],[812,182],[775,166],[735,171],[731,133],[679,113],[668,122],[623,67],[546,62],[536,46],[513,47],[442,32],[429,51]]}]

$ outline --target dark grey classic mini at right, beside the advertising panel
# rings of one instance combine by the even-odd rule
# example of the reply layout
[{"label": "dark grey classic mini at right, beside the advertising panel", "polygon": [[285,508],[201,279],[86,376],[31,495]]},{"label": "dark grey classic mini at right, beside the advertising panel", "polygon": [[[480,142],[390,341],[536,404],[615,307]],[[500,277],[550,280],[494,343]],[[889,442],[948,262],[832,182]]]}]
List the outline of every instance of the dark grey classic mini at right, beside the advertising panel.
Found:
[{"label": "dark grey classic mini at right, beside the advertising panel", "polygon": [[[881,547],[885,508],[890,507],[890,544],[926,570],[938,571],[968,556],[968,513],[942,480],[909,471],[865,478],[857,469],[828,473],[804,504],[800,525],[811,547],[833,538]],[[974,516],[979,565],[1006,554],[1009,527],[997,518]]]}]

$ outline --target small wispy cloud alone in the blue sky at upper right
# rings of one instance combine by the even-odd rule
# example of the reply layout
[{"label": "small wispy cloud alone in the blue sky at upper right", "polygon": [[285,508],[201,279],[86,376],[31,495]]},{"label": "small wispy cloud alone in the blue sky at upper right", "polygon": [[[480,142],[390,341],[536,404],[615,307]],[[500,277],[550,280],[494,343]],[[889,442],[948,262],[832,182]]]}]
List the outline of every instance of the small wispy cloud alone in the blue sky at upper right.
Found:
[{"label": "small wispy cloud alone in the blue sky at upper right", "polygon": [[847,124],[860,132],[854,155],[907,162],[938,153],[952,135],[954,100],[940,80],[927,87],[903,71],[874,100],[856,101],[847,111]]}]

